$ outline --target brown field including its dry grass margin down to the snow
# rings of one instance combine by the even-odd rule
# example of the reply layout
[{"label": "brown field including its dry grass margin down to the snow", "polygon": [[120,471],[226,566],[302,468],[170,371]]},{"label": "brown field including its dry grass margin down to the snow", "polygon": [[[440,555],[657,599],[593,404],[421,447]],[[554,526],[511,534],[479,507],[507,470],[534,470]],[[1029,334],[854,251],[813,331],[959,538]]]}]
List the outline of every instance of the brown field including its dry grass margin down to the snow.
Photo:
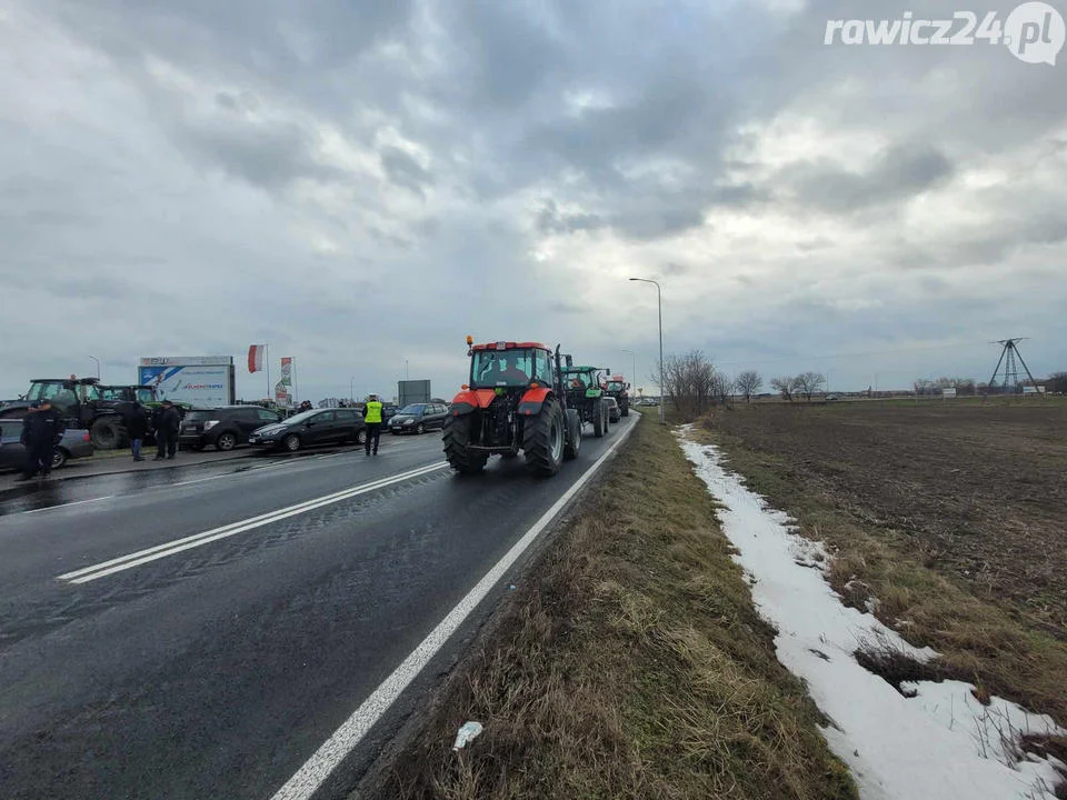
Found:
[{"label": "brown field including its dry grass margin down to the snow", "polygon": [[[778,403],[705,428],[949,672],[1067,723],[1067,403]],[[857,598],[860,604],[865,598]]]}]

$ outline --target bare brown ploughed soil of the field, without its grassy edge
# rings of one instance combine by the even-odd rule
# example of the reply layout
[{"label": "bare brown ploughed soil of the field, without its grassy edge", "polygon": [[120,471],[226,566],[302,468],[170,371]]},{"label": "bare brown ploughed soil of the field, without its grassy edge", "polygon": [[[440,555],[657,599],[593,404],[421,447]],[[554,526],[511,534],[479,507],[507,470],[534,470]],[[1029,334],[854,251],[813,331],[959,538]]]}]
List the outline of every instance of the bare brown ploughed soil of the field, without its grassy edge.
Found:
[{"label": "bare brown ploughed soil of the field, without its grassy edge", "polygon": [[1067,639],[1063,398],[739,406],[714,429],[728,452],[772,459],[796,489]]}]

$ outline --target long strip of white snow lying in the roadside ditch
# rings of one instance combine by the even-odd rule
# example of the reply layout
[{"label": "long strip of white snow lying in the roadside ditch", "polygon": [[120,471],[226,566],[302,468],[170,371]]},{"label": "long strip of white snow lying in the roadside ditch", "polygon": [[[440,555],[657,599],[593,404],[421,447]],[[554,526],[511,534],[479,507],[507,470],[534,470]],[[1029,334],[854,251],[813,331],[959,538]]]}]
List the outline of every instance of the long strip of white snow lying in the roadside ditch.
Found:
[{"label": "long strip of white snow lying in the roadside ditch", "polygon": [[755,581],[760,613],[778,630],[779,661],[807,682],[831,720],[824,734],[852,770],[865,800],[1053,797],[1053,764],[1036,757],[1018,761],[1009,753],[1019,732],[1065,731],[1000,698],[983,706],[971,687],[958,681],[909,684],[917,696],[905,698],[860,667],[852,653],[878,639],[918,659],[935,653],[913,648],[871,614],[842,606],[822,574],[821,546],[797,536],[785,513],[727,472],[716,448],[685,434],[681,446],[724,506],[722,530],[740,551],[735,560]]}]

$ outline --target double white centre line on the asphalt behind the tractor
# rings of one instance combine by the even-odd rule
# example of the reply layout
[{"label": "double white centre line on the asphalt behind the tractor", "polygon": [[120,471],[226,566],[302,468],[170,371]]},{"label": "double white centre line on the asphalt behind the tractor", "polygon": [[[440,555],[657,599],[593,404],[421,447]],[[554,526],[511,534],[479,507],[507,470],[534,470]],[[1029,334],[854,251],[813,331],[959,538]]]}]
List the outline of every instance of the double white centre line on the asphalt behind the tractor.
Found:
[{"label": "double white centre line on the asphalt behind the tractor", "polygon": [[239,522],[231,522],[230,524],[226,524],[220,528],[213,528],[202,533],[195,533],[192,536],[183,537],[182,539],[176,539],[163,544],[157,544],[156,547],[138,550],[137,552],[128,553],[126,556],[120,556],[119,558],[111,559],[110,561],[102,561],[101,563],[92,564],[91,567],[84,567],[82,569],[74,570],[73,572],[67,572],[59,576],[58,580],[66,580],[70,581],[71,583],[88,583],[89,581],[99,580],[100,578],[113,574],[114,572],[132,569],[133,567],[148,563],[149,561],[157,561],[158,559],[167,558],[168,556],[173,556],[185,550],[191,550],[192,548],[201,547],[203,544],[208,544],[209,542],[218,541],[219,539],[226,539],[227,537],[236,536],[237,533],[243,533],[245,531],[250,531],[256,528],[270,524],[271,522],[287,519],[288,517],[296,517],[297,514],[312,511],[315,509],[322,508],[323,506],[329,506],[342,500],[348,500],[360,494],[366,494],[367,492],[382,489],[393,483],[399,483],[412,478],[420,478],[425,474],[436,472],[447,466],[447,461],[440,461],[438,463],[420,467],[408,472],[401,472],[400,474],[382,478],[370,483],[351,487],[332,494],[326,494],[321,498],[306,500],[305,502],[297,503],[296,506],[289,506],[269,513],[241,520]]}]

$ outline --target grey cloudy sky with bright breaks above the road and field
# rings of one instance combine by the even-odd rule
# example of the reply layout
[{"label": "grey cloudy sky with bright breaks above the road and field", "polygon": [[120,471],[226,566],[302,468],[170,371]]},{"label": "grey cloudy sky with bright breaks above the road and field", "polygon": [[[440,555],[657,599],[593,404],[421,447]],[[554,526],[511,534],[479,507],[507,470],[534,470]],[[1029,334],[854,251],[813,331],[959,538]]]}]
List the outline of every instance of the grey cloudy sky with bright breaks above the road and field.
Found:
[{"label": "grey cloudy sky with bright breaks above the road and field", "polygon": [[4,2],[0,397],[253,342],[315,400],[450,397],[467,333],[649,386],[628,277],[768,380],[1067,369],[1067,63],[824,44],[913,6]]}]

